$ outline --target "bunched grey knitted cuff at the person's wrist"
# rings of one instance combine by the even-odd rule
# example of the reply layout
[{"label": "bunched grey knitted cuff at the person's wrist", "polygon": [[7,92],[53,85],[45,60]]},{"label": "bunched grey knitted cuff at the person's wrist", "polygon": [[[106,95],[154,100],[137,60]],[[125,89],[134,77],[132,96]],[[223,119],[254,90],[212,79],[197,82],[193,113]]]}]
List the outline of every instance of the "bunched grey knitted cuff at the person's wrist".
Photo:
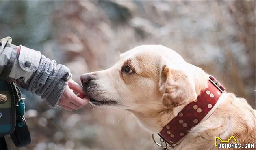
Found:
[{"label": "bunched grey knitted cuff at the person's wrist", "polygon": [[38,69],[26,82],[26,90],[46,99],[47,104],[55,108],[70,78],[69,68],[41,55]]}]

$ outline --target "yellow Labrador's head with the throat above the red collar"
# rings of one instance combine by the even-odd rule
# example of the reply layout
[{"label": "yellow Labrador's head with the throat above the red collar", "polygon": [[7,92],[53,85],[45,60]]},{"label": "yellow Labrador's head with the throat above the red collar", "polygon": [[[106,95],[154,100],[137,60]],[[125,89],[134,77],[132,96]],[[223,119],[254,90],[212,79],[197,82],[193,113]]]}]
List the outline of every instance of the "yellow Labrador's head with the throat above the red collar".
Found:
[{"label": "yellow Labrador's head with the throat above the red collar", "polygon": [[81,82],[92,104],[129,110],[144,127],[160,129],[175,108],[195,100],[207,85],[199,78],[207,77],[175,51],[143,45],[121,54],[111,68],[83,74]]}]

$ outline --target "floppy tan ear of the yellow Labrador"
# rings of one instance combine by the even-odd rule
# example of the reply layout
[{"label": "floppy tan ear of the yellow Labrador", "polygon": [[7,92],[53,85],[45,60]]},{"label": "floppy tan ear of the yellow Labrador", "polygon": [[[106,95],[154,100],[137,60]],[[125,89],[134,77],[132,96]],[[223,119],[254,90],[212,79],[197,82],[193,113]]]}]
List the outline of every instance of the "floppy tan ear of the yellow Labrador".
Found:
[{"label": "floppy tan ear of the yellow Labrador", "polygon": [[163,105],[169,108],[188,104],[197,98],[195,84],[189,74],[167,65],[162,67],[159,87],[163,92]]}]

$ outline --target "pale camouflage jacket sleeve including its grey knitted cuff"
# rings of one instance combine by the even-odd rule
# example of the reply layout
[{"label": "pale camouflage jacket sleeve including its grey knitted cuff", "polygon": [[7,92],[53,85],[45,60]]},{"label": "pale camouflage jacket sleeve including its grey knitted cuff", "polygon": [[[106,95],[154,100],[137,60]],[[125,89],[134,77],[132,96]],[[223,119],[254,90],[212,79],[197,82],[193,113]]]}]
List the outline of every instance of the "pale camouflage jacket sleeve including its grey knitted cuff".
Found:
[{"label": "pale camouflage jacket sleeve including its grey knitted cuff", "polygon": [[69,68],[39,51],[11,44],[11,38],[7,37],[0,40],[0,77],[17,81],[56,107],[71,73]]}]

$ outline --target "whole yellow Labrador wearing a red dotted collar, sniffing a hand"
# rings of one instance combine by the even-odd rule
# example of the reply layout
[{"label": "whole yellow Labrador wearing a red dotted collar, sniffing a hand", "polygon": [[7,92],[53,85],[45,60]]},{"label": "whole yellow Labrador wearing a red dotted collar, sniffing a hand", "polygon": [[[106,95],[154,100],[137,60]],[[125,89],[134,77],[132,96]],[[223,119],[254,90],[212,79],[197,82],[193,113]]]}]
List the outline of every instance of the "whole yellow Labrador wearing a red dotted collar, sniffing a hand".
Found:
[{"label": "whole yellow Labrador wearing a red dotted collar, sniffing a hand", "polygon": [[[82,74],[81,82],[92,104],[128,110],[175,150],[244,149],[256,142],[256,111],[246,99],[224,92],[165,46],[135,47],[113,67]],[[220,141],[232,136],[231,145]]]}]

